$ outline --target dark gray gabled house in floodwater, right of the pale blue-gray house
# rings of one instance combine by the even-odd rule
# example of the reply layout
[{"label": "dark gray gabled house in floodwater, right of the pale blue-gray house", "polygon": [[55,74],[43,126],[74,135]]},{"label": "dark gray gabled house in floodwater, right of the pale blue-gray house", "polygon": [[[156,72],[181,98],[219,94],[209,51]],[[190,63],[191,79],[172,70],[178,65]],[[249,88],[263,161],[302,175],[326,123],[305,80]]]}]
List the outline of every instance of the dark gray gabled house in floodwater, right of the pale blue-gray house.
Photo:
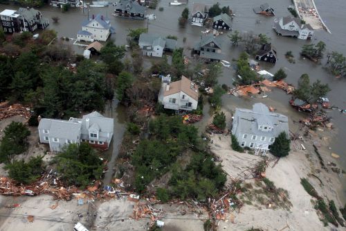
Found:
[{"label": "dark gray gabled house in floodwater, right of the pale blue-gray house", "polygon": [[206,62],[219,61],[222,59],[221,40],[212,34],[203,35],[201,41],[194,45],[193,53],[197,53]]}]

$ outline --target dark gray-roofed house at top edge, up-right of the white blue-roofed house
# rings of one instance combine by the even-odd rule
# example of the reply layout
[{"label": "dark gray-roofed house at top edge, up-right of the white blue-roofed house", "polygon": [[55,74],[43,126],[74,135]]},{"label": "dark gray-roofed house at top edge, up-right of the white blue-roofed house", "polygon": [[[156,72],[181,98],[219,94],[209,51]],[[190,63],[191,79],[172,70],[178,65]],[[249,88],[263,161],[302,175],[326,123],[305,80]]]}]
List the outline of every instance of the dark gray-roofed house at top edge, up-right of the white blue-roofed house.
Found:
[{"label": "dark gray-roofed house at top edge, up-right of the white blue-roofed house", "polygon": [[120,0],[116,3],[115,16],[128,17],[131,19],[144,19],[145,6],[140,6],[138,1]]}]

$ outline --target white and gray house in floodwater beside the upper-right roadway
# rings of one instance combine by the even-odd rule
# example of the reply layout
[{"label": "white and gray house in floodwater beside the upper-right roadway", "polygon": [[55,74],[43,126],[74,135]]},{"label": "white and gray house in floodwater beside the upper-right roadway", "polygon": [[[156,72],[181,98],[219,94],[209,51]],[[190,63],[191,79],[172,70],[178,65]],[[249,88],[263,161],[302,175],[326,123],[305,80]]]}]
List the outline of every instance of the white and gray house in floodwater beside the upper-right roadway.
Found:
[{"label": "white and gray house in floodwater beside the upper-right roadway", "polygon": [[309,24],[302,24],[295,17],[275,19],[273,29],[277,35],[298,37],[300,40],[309,40],[313,36],[313,28]]}]

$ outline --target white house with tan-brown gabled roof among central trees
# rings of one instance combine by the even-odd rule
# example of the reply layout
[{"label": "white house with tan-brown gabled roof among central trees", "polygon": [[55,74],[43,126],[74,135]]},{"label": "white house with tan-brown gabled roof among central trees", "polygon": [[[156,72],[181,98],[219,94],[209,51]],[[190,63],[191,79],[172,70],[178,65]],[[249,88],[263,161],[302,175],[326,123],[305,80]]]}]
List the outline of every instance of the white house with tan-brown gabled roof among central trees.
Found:
[{"label": "white house with tan-brown gabled roof among central trees", "polygon": [[198,105],[198,86],[185,76],[171,82],[170,77],[163,77],[158,102],[163,108],[172,110],[196,110]]}]

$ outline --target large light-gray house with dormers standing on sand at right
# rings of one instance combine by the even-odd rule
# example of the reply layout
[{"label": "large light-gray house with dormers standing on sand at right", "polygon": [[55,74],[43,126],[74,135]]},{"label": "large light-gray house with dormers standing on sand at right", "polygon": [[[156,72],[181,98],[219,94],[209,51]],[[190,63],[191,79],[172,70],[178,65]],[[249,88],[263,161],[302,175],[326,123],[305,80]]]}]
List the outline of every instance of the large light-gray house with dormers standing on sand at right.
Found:
[{"label": "large light-gray house with dormers standing on sand at right", "polygon": [[237,137],[240,146],[253,148],[255,155],[266,155],[269,145],[274,143],[281,132],[289,136],[288,118],[283,114],[269,112],[263,103],[255,103],[252,110],[235,110],[232,134]]}]

